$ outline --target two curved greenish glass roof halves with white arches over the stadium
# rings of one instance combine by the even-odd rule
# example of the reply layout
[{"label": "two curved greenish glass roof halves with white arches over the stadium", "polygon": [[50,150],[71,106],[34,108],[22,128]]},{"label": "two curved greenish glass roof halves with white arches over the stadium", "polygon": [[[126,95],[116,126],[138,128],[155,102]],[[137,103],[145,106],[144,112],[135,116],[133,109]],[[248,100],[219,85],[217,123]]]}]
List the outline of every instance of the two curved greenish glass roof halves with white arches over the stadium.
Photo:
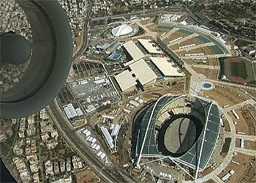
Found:
[{"label": "two curved greenish glass roof halves with white arches over the stadium", "polygon": [[[155,122],[161,109],[184,96],[186,95],[163,95],[147,109],[136,134],[135,164],[137,166],[139,166],[141,158],[164,156],[158,151],[156,145]],[[211,101],[203,100],[202,98],[197,98],[197,101],[205,112],[205,126],[200,136],[184,155],[179,157],[168,156],[168,158],[189,168],[197,169],[197,171],[203,171],[213,154],[220,133],[220,112],[218,106]]]}]

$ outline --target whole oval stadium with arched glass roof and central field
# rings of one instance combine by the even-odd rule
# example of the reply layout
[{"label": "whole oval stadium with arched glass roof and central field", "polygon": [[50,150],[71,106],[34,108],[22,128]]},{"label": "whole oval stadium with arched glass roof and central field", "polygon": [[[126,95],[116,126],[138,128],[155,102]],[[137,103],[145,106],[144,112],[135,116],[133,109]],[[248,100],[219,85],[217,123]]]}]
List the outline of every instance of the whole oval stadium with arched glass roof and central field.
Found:
[{"label": "whole oval stadium with arched glass roof and central field", "polygon": [[194,95],[163,95],[134,119],[132,156],[168,158],[203,171],[213,155],[220,133],[220,112],[213,101]]}]

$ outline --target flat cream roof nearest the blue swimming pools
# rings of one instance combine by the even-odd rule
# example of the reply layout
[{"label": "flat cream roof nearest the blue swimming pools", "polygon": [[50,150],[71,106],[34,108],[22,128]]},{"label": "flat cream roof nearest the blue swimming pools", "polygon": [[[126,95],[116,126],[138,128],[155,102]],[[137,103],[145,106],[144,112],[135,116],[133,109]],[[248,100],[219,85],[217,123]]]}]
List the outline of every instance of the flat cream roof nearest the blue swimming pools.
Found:
[{"label": "flat cream roof nearest the blue swimming pools", "polygon": [[134,59],[134,61],[139,61],[144,57],[142,51],[135,45],[134,41],[130,40],[127,43],[124,43],[124,48],[130,54],[130,56]]}]

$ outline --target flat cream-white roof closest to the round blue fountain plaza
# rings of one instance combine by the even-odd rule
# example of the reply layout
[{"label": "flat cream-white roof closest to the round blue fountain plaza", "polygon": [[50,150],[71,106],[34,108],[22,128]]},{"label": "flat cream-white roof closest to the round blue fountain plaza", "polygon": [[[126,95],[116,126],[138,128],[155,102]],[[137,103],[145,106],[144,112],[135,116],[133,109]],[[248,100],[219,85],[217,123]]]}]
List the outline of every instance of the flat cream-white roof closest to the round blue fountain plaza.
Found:
[{"label": "flat cream-white roof closest to the round blue fountain plaza", "polygon": [[178,72],[179,69],[177,67],[168,62],[169,59],[167,57],[150,57],[150,59],[164,76],[184,76],[182,72]]}]

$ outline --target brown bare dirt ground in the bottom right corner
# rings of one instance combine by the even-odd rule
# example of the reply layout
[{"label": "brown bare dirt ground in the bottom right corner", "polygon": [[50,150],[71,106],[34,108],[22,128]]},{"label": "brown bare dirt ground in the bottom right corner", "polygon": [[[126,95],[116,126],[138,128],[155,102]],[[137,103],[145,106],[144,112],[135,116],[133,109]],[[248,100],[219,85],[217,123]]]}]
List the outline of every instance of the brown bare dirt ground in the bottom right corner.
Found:
[{"label": "brown bare dirt ground in the bottom right corner", "polygon": [[[221,172],[218,177],[223,177],[228,173],[228,171],[231,171],[233,169],[235,171],[234,175],[231,176],[230,179],[228,179],[228,183],[234,183],[234,182],[250,182],[252,180],[252,177],[254,176],[253,172],[250,170],[252,163],[252,156],[243,155],[241,153],[237,153],[237,155],[233,156],[233,161],[236,161],[238,164],[235,163],[229,163],[228,167],[225,169],[224,172]],[[248,181],[245,181],[245,177],[247,177]],[[249,181],[250,180],[250,181]]]}]

